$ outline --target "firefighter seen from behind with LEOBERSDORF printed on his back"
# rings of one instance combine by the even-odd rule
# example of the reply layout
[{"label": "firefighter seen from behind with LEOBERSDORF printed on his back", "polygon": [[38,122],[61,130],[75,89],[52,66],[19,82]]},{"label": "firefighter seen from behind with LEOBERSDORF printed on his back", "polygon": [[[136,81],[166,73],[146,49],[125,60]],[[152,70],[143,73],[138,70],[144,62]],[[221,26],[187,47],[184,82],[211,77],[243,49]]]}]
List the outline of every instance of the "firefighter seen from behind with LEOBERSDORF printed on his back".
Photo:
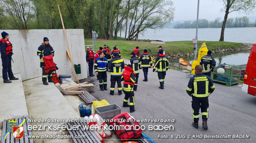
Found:
[{"label": "firefighter seen from behind with LEOBERSDORF printed on his back", "polygon": [[195,67],[196,75],[190,78],[187,85],[187,94],[192,96],[192,113],[194,122],[192,125],[198,128],[199,121],[199,109],[201,108],[202,113],[202,128],[207,129],[208,119],[208,96],[214,91],[215,86],[209,76],[202,74],[202,66],[197,65]]}]

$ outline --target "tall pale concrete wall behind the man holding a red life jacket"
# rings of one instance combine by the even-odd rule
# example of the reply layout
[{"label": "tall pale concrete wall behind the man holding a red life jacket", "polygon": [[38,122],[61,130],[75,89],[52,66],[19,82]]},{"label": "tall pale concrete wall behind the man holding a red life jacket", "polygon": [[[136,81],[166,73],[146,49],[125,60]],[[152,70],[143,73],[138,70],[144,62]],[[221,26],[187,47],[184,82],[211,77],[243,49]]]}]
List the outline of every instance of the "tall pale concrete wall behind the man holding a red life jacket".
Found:
[{"label": "tall pale concrete wall behind the man holding a red life jacket", "polygon": [[[12,71],[21,73],[22,80],[29,80],[42,76],[40,59],[37,56],[37,49],[42,44],[44,37],[48,37],[49,43],[55,50],[54,62],[59,70],[57,74],[72,74],[72,65],[67,57],[67,44],[63,29],[32,29],[32,30],[1,30],[10,35],[9,41],[13,45]],[[87,63],[84,48],[84,30],[66,29],[70,54],[73,64],[81,64],[81,74],[78,79],[87,78]],[[0,66],[2,76],[2,66]]]}]

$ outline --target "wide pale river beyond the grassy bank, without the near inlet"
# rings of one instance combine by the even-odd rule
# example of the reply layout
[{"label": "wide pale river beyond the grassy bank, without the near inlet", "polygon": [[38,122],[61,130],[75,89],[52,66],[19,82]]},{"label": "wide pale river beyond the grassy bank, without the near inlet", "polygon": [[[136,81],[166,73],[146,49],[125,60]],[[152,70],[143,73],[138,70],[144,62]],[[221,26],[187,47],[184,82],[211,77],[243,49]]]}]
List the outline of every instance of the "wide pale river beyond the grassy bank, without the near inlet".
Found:
[{"label": "wide pale river beyond the grassy bank, without the near inlet", "polygon": [[[121,37],[125,33],[122,32]],[[221,28],[199,28],[199,41],[219,41]],[[161,41],[192,41],[196,36],[196,29],[147,29],[139,34],[139,39],[161,40]],[[256,43],[256,27],[254,28],[225,28],[224,41]]]}]

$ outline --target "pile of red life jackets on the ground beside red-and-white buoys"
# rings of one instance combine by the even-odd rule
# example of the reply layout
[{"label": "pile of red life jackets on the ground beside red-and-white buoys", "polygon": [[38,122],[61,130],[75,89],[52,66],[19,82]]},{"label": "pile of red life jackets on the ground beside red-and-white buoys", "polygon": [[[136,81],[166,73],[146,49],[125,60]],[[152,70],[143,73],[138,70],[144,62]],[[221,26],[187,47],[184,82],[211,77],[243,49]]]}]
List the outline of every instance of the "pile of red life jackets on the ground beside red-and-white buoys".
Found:
[{"label": "pile of red life jackets on the ground beside red-and-white buoys", "polygon": [[[123,125],[129,126],[131,130],[117,130],[117,135],[121,138],[121,141],[127,141],[129,139],[137,138],[141,136],[142,130],[139,127],[139,123],[134,121],[134,118],[127,112],[123,112],[113,118],[113,121],[117,122],[109,122],[109,125]],[[125,122],[124,122],[125,120]],[[128,128],[128,127],[127,127]],[[136,130],[135,130],[136,129]]]}]

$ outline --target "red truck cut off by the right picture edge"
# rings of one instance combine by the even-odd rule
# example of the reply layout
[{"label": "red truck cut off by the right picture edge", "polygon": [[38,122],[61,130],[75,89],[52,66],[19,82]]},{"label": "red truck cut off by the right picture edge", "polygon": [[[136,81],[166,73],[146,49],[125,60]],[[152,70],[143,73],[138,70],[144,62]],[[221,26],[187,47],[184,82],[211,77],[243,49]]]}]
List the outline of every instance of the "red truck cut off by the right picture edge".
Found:
[{"label": "red truck cut off by the right picture edge", "polygon": [[256,44],[253,44],[244,74],[242,91],[256,95]]}]

